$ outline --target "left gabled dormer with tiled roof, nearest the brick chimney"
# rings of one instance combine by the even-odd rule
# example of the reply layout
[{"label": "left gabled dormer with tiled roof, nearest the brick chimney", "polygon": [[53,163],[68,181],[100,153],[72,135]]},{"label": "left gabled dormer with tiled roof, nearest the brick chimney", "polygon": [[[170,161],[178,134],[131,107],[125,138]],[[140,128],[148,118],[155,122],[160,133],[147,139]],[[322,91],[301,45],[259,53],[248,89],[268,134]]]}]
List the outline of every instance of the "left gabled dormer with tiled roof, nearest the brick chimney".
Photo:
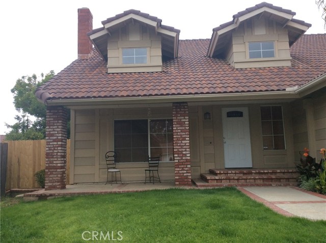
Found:
[{"label": "left gabled dormer with tiled roof, nearest the brick chimney", "polygon": [[162,60],[178,55],[178,29],[137,10],[102,21],[88,35],[104,60],[108,73],[160,72]]}]

